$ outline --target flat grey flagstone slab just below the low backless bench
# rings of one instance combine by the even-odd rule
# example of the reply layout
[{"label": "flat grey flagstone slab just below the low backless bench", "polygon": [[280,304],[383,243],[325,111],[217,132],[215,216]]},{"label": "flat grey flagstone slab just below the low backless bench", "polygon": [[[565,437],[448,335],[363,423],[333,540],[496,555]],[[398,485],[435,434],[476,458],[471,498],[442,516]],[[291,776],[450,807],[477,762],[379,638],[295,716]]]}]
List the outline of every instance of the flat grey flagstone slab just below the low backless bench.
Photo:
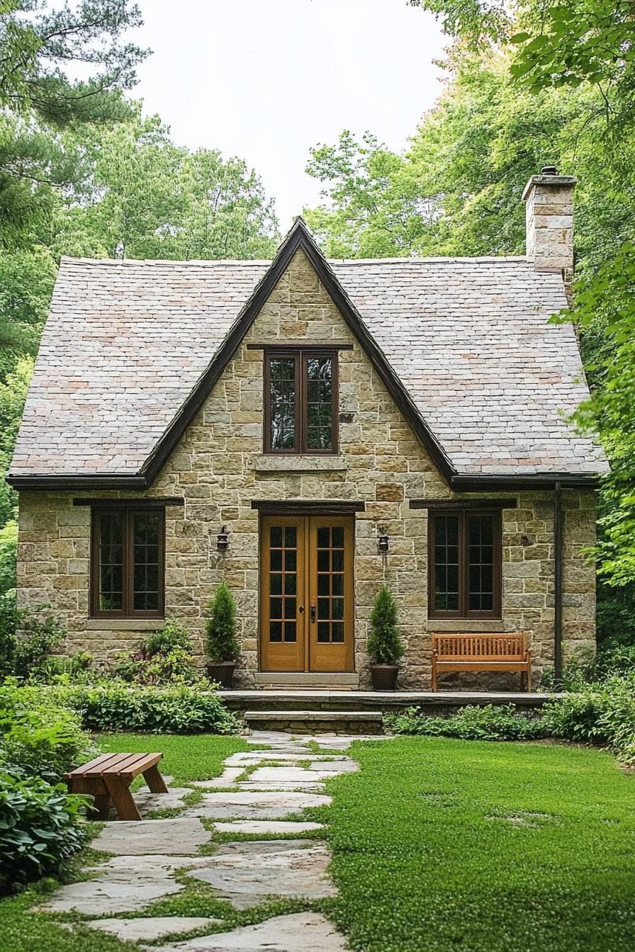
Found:
[{"label": "flat grey flagstone slab just below the low backless bench", "polygon": [[93,849],[118,856],[149,854],[188,856],[209,842],[208,831],[200,820],[120,820],[106,823],[90,843]]}]

